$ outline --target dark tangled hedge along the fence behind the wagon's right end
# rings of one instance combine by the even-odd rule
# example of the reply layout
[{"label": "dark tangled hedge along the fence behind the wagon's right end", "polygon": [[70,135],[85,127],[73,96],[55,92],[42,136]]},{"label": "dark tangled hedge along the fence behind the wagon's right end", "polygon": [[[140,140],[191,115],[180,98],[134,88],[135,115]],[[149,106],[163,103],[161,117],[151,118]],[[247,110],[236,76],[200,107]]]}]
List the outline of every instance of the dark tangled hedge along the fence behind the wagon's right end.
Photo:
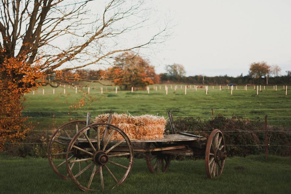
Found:
[{"label": "dark tangled hedge along the fence behind the wagon's right end", "polygon": [[[207,137],[214,129],[220,129],[225,137],[228,156],[247,156],[249,154],[260,154],[264,152],[265,146],[265,124],[262,120],[250,121],[241,117],[226,118],[217,116],[213,120],[201,120],[193,117],[178,117],[174,119],[176,131],[191,132],[195,135]],[[169,125],[166,130],[171,131]],[[282,131],[280,127],[268,126],[269,153],[280,156],[291,156],[291,135]],[[275,132],[276,131],[276,132]],[[237,146],[255,145],[255,146]]]}]

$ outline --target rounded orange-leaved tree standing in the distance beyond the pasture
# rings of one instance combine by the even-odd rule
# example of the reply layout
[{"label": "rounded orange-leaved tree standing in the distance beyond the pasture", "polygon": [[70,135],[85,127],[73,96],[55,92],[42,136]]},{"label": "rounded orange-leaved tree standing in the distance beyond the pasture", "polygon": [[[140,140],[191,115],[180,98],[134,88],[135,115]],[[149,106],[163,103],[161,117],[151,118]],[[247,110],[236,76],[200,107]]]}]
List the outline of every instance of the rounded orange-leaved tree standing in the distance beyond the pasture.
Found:
[{"label": "rounded orange-leaved tree standing in the distance beyond the pasture", "polygon": [[131,87],[144,88],[157,80],[155,68],[133,52],[124,52],[115,60],[114,66],[109,69],[109,77],[115,85],[120,85],[125,90],[130,90]]}]

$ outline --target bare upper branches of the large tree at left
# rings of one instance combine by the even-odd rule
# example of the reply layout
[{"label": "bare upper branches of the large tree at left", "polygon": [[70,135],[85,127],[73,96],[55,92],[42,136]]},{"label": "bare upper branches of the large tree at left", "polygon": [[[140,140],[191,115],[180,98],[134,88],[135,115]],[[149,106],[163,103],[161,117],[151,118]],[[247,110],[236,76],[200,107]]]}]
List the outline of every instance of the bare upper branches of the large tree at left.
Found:
[{"label": "bare upper branches of the large tree at left", "polygon": [[[26,55],[26,64],[33,66],[37,60],[41,61],[39,71],[55,76],[52,82],[64,82],[64,77],[57,73],[61,69],[66,72],[92,64],[108,64],[120,52],[138,52],[163,42],[167,36],[165,24],[144,42],[124,43],[124,34],[148,25],[147,9],[142,1],[112,0],[97,14],[87,5],[89,2],[92,5],[94,0],[1,2],[0,65],[4,59]],[[74,76],[66,77],[65,81],[74,79]]]}]

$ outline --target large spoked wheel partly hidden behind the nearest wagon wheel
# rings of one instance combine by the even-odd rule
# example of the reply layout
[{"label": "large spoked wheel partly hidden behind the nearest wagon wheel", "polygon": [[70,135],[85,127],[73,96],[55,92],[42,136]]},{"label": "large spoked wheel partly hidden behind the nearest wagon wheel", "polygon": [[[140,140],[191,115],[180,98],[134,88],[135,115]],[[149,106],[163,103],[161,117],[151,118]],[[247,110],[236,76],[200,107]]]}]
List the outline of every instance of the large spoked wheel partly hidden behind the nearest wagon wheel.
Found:
[{"label": "large spoked wheel partly hidden behind the nearest wagon wheel", "polygon": [[[62,125],[52,134],[48,146],[49,164],[51,165],[53,171],[55,171],[55,173],[62,179],[69,179],[66,165],[64,165],[69,141],[60,140],[58,137],[71,138],[79,131],[79,129],[82,129],[85,126],[85,121],[71,121]],[[73,159],[73,157],[71,159]],[[74,166],[72,165],[71,168],[73,167]]]}]

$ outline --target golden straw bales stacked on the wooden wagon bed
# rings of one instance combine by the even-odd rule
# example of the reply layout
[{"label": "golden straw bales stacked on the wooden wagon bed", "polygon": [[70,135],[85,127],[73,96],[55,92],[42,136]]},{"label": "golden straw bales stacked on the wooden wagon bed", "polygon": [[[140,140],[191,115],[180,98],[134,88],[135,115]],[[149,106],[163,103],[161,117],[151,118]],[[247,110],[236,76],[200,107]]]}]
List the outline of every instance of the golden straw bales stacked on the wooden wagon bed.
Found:
[{"label": "golden straw bales stacked on the wooden wagon bed", "polygon": [[[109,114],[98,115],[94,122],[107,122]],[[166,119],[162,116],[112,114],[112,125],[122,129],[129,139],[162,139],[166,128]],[[100,138],[105,128],[100,128]],[[122,139],[119,133],[114,133],[111,139]]]}]

